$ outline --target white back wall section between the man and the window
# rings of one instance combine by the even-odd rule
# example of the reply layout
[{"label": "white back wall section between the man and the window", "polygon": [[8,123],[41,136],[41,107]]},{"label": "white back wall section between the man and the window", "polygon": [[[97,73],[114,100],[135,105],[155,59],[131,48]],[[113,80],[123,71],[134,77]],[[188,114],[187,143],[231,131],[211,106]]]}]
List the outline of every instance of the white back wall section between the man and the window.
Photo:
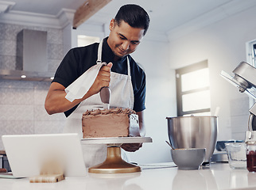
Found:
[{"label": "white back wall section between the man and the window", "polygon": [[144,143],[130,158],[138,163],[171,161],[165,118],[176,116],[176,86],[174,70],[169,68],[169,42],[153,40],[149,32],[132,56],[146,74],[145,127],[153,143]]}]

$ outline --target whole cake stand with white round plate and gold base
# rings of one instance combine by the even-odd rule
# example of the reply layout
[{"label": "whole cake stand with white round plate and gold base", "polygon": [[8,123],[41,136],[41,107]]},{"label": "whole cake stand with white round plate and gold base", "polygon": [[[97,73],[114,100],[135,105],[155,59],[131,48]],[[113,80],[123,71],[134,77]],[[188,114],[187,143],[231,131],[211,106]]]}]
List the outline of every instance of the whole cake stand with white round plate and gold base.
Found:
[{"label": "whole cake stand with white round plate and gold base", "polygon": [[106,144],[107,158],[103,163],[92,166],[89,173],[135,173],[141,172],[138,165],[124,161],[121,157],[121,146],[125,143],[152,142],[150,137],[113,137],[81,139],[81,144]]}]

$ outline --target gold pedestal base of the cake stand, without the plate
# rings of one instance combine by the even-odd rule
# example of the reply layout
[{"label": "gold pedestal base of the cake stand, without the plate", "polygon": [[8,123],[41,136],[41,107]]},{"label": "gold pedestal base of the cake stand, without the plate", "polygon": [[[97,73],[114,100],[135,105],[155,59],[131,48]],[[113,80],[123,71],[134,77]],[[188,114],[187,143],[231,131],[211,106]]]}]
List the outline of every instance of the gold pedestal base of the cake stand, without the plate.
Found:
[{"label": "gold pedestal base of the cake stand, without the plate", "polygon": [[132,165],[122,160],[120,146],[108,146],[107,159],[88,169],[89,173],[136,173],[141,171],[138,165]]}]

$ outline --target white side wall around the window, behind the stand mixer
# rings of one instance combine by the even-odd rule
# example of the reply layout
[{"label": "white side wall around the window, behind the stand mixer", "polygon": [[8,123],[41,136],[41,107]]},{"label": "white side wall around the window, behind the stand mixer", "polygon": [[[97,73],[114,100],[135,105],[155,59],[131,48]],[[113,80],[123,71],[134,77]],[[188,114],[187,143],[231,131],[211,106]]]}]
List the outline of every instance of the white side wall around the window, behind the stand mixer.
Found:
[{"label": "white side wall around the window, behind the stand mixer", "polygon": [[208,59],[212,112],[220,107],[218,140],[244,139],[249,98],[219,74],[221,70],[232,74],[241,61],[246,61],[246,42],[256,38],[255,13],[255,7],[247,9],[169,45],[172,69]]}]

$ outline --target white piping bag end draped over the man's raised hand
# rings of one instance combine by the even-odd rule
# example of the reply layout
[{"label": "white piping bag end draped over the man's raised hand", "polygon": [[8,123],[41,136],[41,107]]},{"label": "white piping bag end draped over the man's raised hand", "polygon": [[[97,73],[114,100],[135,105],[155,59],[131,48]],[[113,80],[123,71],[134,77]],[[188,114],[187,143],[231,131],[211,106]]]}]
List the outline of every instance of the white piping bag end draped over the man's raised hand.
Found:
[{"label": "white piping bag end draped over the man's raised hand", "polygon": [[[95,78],[97,77],[100,68],[106,64],[107,63],[97,63],[95,66],[85,71],[79,78],[76,79],[76,81],[72,82],[72,84],[65,89],[65,92],[67,93],[65,98],[71,102],[82,98],[84,94],[86,94],[91,88],[93,82],[95,82]],[[102,89],[100,91],[102,91]]]}]

